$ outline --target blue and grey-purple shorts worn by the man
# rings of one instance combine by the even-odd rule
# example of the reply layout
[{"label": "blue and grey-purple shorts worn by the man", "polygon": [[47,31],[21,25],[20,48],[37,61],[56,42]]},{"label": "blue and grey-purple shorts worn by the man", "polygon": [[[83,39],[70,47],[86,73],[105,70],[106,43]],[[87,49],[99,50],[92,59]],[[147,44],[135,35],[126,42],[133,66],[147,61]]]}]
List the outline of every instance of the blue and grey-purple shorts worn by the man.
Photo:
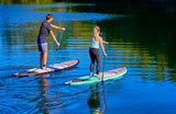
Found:
[{"label": "blue and grey-purple shorts worn by the man", "polygon": [[37,47],[38,52],[46,53],[47,52],[47,42],[41,38],[37,38]]}]

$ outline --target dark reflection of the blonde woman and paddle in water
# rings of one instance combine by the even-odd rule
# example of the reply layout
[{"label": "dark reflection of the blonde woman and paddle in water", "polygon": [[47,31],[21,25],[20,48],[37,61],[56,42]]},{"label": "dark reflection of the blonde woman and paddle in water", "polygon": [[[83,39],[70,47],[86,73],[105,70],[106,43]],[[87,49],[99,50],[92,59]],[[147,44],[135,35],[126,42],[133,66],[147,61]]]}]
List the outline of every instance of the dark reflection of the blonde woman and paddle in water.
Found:
[{"label": "dark reflection of the blonde woman and paddle in water", "polygon": [[88,105],[90,109],[90,114],[103,114],[103,112],[107,110],[107,100],[106,100],[106,94],[103,92],[103,100],[105,100],[105,104],[101,107],[101,98],[100,98],[100,90],[99,90],[99,86],[100,83],[91,84],[89,87],[89,89],[91,90],[91,94],[88,98]]}]

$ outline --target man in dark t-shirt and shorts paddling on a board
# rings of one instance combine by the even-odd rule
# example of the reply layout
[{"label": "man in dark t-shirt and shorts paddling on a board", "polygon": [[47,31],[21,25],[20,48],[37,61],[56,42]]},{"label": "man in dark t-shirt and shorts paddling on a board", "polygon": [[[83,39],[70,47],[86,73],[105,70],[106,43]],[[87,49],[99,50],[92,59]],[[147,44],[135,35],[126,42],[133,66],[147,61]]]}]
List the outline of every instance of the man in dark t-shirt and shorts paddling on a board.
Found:
[{"label": "man in dark t-shirt and shorts paddling on a board", "polygon": [[[65,27],[59,27],[59,26],[51,24],[51,22],[53,21],[53,18],[54,18],[53,14],[46,15],[46,20],[44,20],[42,22],[40,33],[37,36],[37,47],[38,47],[38,50],[41,52],[40,68],[41,69],[43,68],[44,70],[47,69],[46,61],[47,61],[47,37],[48,37],[48,34],[51,33],[53,39],[56,42],[57,46],[59,47],[59,43],[57,42],[57,39],[53,33],[53,29],[65,31]],[[44,64],[42,66],[43,57],[44,57]]]}]

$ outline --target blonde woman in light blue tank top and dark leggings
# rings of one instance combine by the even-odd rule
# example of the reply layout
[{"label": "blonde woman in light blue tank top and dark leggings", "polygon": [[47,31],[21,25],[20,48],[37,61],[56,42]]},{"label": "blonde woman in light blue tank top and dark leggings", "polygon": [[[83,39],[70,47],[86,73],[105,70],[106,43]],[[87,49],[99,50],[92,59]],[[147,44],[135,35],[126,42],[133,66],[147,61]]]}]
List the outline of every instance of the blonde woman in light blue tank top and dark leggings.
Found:
[{"label": "blonde woman in light blue tank top and dark leggings", "polygon": [[109,44],[108,42],[102,41],[102,37],[99,36],[99,33],[100,33],[100,27],[99,26],[95,26],[94,27],[94,33],[91,35],[91,44],[90,44],[90,47],[89,47],[89,55],[90,55],[90,59],[91,59],[90,76],[94,76],[92,70],[94,70],[95,60],[96,60],[97,61],[97,77],[101,77],[99,75],[99,70],[100,70],[99,44],[101,45],[102,52],[103,52],[106,57],[107,57],[107,53],[105,50],[103,43],[105,44]]}]

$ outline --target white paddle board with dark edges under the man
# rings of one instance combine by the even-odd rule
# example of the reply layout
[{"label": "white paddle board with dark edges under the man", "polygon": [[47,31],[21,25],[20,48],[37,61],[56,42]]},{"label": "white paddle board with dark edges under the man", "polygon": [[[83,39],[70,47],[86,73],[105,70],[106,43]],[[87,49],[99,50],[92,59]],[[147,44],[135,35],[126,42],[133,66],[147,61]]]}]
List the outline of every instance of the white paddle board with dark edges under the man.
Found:
[{"label": "white paddle board with dark edges under the man", "polygon": [[47,70],[43,70],[41,68],[32,68],[26,71],[13,73],[12,76],[16,77],[23,77],[23,76],[36,76],[36,75],[43,75],[43,73],[48,73],[48,72],[54,72],[54,71],[59,71],[59,70],[65,70],[72,67],[75,67],[79,64],[78,59],[70,60],[70,61],[65,61],[65,62],[59,62],[59,64],[54,64],[47,66]]}]

